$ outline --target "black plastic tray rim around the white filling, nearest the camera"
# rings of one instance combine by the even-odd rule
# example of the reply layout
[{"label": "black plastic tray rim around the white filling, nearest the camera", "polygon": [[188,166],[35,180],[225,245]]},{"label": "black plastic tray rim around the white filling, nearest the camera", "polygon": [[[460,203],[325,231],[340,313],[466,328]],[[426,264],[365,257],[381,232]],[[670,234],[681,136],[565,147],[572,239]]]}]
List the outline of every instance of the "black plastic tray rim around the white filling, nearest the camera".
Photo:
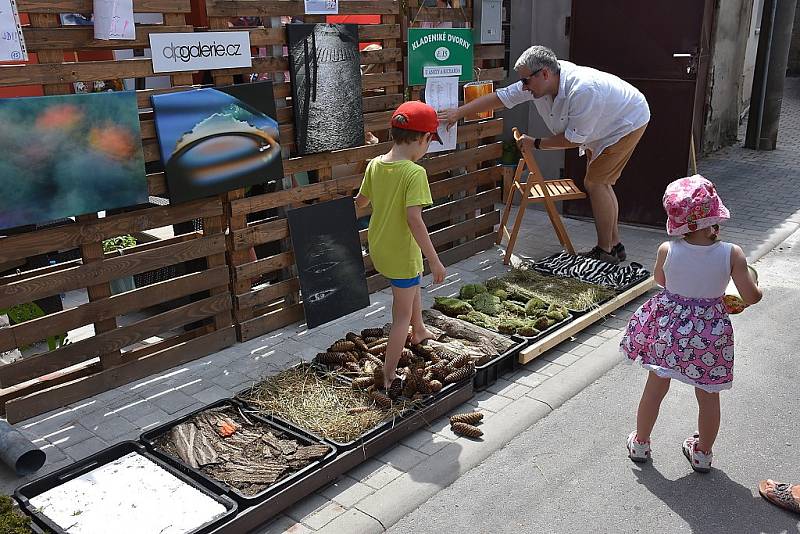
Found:
[{"label": "black plastic tray rim around the white filling, nearest the camera", "polygon": [[[227,512],[204,525],[199,526],[198,528],[192,530],[190,533],[187,534],[205,534],[207,532],[211,532],[212,530],[216,529],[222,523],[229,521],[232,516],[236,514],[238,511],[238,506],[236,502],[227,497],[225,495],[219,495],[215,493],[213,490],[210,490],[204,487],[201,484],[198,484],[194,481],[191,477],[183,473],[182,471],[174,468],[170,464],[164,462],[160,458],[150,454],[147,450],[142,446],[140,443],[135,441],[123,441],[116,445],[112,445],[107,449],[104,449],[100,452],[97,452],[83,460],[77,461],[73,464],[70,464],[66,467],[63,467],[57,471],[54,471],[48,475],[43,477],[37,478],[32,482],[28,482],[17,488],[14,492],[14,497],[19,502],[20,508],[25,511],[28,515],[33,518],[33,522],[45,529],[49,529],[51,532],[55,534],[67,534],[66,531],[61,529],[58,525],[53,523],[47,516],[41,513],[37,508],[35,508],[30,499],[36,497],[37,495],[41,495],[46,491],[49,491],[53,488],[56,488],[70,480],[80,477],[81,475],[101,467],[103,465],[109,464],[114,460],[122,458],[126,454],[130,454],[132,452],[138,453],[154,464],[158,465],[171,475],[175,476],[182,482],[190,485],[191,487],[197,489],[198,491],[202,492],[203,494],[211,497],[218,503],[222,504]],[[144,488],[143,488],[144,489]],[[114,525],[109,525],[109,531],[113,531]]]}]

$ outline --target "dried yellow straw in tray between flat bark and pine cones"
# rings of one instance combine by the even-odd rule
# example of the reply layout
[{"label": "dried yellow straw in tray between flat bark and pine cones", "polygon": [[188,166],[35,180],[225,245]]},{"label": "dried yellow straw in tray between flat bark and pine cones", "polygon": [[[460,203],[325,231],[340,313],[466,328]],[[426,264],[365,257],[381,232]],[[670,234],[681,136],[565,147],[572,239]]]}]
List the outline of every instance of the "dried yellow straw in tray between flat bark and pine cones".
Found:
[{"label": "dried yellow straw in tray between flat bark and pine cones", "polygon": [[[353,441],[410,407],[410,403],[396,403],[382,410],[368,394],[307,365],[269,377],[240,397],[265,414],[338,442]],[[361,407],[367,409],[354,410]]]}]

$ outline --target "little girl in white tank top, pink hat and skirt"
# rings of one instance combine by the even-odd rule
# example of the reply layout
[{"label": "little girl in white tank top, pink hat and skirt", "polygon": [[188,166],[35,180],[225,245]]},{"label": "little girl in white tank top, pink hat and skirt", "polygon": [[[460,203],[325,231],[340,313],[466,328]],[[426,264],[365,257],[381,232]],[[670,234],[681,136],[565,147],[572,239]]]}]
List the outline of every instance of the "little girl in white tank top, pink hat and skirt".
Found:
[{"label": "little girl in white tank top, pink hat and skirt", "polygon": [[628,456],[650,458],[650,433],[671,379],[694,386],[699,406],[697,434],[682,449],[692,469],[711,468],[719,431],[719,392],[733,384],[733,326],[722,297],[731,277],[746,304],[761,299],[744,252],[717,241],[720,222],[730,217],[714,184],[695,175],[667,186],[663,198],[667,233],[682,236],[658,248],[653,276],[664,288],[633,314],[620,349],[649,371],[639,401]]}]

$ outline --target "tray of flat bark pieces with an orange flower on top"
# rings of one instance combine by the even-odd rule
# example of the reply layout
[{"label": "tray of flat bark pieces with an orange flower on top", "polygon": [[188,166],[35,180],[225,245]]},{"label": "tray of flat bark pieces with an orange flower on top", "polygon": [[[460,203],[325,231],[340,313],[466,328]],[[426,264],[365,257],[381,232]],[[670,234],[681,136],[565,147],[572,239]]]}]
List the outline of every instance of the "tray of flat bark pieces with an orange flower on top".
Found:
[{"label": "tray of flat bark pieces with an orange flower on top", "polygon": [[336,447],[245,413],[224,399],[142,434],[152,453],[243,505],[261,502],[332,459]]}]

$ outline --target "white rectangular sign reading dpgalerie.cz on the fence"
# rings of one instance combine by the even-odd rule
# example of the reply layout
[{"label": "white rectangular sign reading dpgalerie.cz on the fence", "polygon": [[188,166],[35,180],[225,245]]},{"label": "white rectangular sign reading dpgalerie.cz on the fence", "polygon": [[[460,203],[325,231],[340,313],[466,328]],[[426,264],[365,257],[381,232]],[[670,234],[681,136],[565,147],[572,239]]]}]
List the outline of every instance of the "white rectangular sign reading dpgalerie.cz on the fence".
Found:
[{"label": "white rectangular sign reading dpgalerie.cz on the fence", "polygon": [[251,67],[250,32],[151,33],[153,72]]}]

